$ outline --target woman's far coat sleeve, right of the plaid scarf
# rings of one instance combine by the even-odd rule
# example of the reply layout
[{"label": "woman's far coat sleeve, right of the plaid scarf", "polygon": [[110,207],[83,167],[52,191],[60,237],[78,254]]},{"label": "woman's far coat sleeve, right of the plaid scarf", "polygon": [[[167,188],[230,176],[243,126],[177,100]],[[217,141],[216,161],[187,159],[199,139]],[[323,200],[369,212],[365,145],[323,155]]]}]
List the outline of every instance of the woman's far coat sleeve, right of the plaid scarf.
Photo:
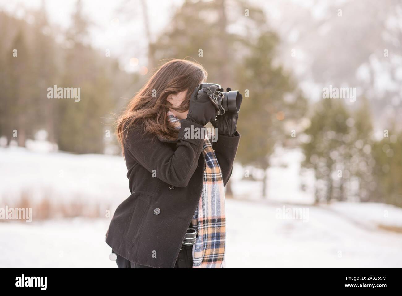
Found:
[{"label": "woman's far coat sleeve, right of the plaid scarf", "polygon": [[222,170],[224,186],[228,183],[233,171],[233,162],[240,142],[240,134],[236,132],[233,137],[218,134],[217,141],[212,143],[216,158]]}]

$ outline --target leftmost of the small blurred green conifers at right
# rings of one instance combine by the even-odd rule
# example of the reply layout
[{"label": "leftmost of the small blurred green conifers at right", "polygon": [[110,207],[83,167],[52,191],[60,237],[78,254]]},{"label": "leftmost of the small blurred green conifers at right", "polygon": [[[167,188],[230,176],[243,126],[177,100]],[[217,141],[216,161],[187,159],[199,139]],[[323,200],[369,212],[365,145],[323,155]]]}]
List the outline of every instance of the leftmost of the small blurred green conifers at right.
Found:
[{"label": "leftmost of the small blurred green conifers at right", "polygon": [[310,127],[305,130],[310,140],[302,145],[302,166],[314,170],[316,202],[334,198],[342,201],[346,199],[345,178],[350,178],[350,115],[338,99],[321,99],[315,107]]}]

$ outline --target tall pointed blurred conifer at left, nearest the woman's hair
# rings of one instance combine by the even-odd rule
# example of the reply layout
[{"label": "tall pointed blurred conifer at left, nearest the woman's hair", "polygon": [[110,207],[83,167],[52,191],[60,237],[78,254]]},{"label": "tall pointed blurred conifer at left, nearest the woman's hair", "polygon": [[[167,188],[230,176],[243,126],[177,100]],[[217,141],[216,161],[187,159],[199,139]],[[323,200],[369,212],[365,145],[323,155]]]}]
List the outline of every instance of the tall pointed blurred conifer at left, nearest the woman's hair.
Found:
[{"label": "tall pointed blurred conifer at left, nearest the woman's hair", "polygon": [[76,153],[103,153],[104,125],[101,117],[113,109],[112,80],[101,56],[83,40],[88,25],[81,1],[76,4],[72,27],[66,34],[64,72],[61,87],[79,87],[81,99],[57,102],[60,119],[57,129],[59,148]]}]

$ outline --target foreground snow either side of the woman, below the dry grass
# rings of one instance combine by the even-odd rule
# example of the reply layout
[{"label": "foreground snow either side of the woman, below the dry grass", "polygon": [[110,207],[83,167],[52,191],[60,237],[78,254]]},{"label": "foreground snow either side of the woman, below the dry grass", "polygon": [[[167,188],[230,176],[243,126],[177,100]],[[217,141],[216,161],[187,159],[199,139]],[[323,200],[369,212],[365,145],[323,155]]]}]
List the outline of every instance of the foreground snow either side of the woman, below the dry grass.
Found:
[{"label": "foreground snow either side of the woman, below the dry grass", "polygon": [[[294,208],[226,201],[228,268],[402,267],[402,234],[367,229],[313,206],[304,219],[285,219],[278,216],[283,206]],[[0,267],[117,268],[105,243],[109,221],[0,223]]]}]

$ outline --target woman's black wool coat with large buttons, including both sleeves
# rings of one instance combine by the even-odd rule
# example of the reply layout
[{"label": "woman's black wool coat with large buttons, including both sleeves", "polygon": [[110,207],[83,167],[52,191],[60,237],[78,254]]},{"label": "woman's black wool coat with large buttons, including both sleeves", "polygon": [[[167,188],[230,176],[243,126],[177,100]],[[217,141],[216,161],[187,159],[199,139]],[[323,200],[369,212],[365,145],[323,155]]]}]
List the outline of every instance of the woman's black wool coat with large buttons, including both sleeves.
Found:
[{"label": "woman's black wool coat with large buttons, including both sleeves", "polygon": [[[129,261],[156,268],[174,268],[180,247],[201,197],[204,139],[185,137],[180,120],[177,141],[164,140],[132,126],[124,144],[131,195],[116,209],[106,243]],[[211,142],[224,185],[232,174],[240,134],[218,134]]]}]

